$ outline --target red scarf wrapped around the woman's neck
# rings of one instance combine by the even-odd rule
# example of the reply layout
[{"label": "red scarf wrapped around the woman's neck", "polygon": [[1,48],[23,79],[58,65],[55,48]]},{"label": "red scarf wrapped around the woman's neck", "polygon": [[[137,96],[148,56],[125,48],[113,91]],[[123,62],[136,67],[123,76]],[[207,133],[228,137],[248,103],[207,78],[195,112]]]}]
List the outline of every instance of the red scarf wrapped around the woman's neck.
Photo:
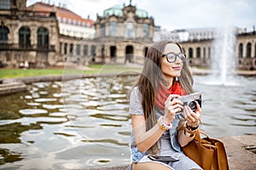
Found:
[{"label": "red scarf wrapped around the woman's neck", "polygon": [[174,81],[172,87],[167,89],[163,83],[160,83],[155,94],[154,104],[161,110],[165,110],[165,102],[170,94],[186,95],[186,91],[179,82]]}]

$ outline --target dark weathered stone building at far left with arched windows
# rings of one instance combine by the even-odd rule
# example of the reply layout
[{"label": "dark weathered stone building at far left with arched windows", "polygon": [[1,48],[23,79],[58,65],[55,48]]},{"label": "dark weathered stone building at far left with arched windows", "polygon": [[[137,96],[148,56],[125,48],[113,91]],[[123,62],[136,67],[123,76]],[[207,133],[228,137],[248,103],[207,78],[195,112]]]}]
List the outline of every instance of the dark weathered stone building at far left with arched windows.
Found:
[{"label": "dark weathered stone building at far left with arched windows", "polygon": [[54,65],[59,59],[59,26],[55,12],[26,9],[26,0],[1,0],[0,60],[15,66]]}]

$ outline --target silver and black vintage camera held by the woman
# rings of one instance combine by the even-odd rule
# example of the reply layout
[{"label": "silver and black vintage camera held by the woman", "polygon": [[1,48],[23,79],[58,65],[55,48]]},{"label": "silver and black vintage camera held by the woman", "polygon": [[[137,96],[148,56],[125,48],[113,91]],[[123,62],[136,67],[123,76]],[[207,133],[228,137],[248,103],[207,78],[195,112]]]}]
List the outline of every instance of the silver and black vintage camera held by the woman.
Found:
[{"label": "silver and black vintage camera held by the woman", "polygon": [[[184,105],[189,105],[189,107],[192,111],[196,110],[195,101],[197,101],[198,104],[201,106],[201,92],[197,92],[195,94],[184,95],[177,99],[180,99]],[[181,111],[181,112],[183,112],[183,111]]]}]

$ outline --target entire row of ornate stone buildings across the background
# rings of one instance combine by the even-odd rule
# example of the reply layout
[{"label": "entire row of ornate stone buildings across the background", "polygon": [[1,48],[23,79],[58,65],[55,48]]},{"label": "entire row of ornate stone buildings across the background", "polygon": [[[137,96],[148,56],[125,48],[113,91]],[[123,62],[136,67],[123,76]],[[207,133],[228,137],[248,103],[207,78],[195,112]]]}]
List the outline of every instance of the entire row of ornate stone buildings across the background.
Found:
[{"label": "entire row of ornate stone buildings across the background", "polygon": [[[0,61],[11,67],[25,61],[30,67],[59,62],[143,64],[150,44],[160,39],[180,42],[190,65],[209,67],[214,50],[218,50],[212,48],[216,29],[160,34],[153,17],[131,2],[107,8],[93,21],[55,5],[35,3],[26,8],[26,0],[2,0],[0,21]],[[234,50],[238,69],[255,70],[255,29],[238,29]]]}]

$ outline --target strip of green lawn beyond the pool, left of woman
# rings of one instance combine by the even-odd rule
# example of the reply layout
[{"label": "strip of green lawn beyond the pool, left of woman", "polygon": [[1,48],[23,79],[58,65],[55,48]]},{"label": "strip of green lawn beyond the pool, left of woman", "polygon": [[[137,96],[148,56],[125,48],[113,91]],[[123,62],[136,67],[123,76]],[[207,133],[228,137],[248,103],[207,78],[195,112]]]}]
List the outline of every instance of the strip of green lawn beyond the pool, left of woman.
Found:
[{"label": "strip of green lawn beyond the pool, left of woman", "polygon": [[125,65],[89,65],[88,68],[46,68],[46,69],[0,69],[0,78],[61,76],[63,74],[102,74],[123,71],[141,71],[140,68],[127,68]]}]

